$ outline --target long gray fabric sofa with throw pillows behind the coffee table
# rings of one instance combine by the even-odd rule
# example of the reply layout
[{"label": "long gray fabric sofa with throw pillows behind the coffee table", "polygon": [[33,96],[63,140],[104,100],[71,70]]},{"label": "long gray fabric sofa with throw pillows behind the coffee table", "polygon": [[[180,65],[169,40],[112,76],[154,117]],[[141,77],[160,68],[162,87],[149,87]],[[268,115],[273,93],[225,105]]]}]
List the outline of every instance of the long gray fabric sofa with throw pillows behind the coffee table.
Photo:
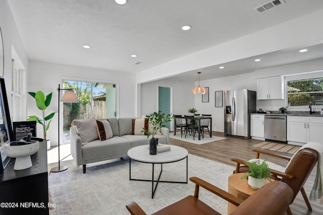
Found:
[{"label": "long gray fabric sofa with throw pillows behind the coffee table", "polygon": [[[95,118],[74,120],[70,128],[71,154],[78,166],[86,164],[127,157],[129,149],[149,144],[149,137],[140,133],[133,135],[133,120],[136,118],[109,118],[108,124],[112,129],[113,137],[100,140],[97,121]],[[100,120],[102,121],[102,120]],[[107,129],[105,129],[107,130]],[[169,129],[161,128],[161,135],[155,135],[161,144],[169,144]],[[107,136],[109,136],[107,134]],[[110,135],[112,136],[112,135]],[[147,149],[147,153],[149,153]]]}]

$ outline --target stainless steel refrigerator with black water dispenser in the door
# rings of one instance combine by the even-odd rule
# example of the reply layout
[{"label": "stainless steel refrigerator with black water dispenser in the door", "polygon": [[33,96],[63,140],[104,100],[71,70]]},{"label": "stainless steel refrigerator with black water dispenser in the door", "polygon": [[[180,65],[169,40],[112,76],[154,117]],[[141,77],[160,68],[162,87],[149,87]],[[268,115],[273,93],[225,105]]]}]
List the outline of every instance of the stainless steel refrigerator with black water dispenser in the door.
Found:
[{"label": "stainless steel refrigerator with black water dispenser in the door", "polygon": [[256,92],[229,90],[223,97],[225,135],[250,138],[250,113],[256,113]]}]

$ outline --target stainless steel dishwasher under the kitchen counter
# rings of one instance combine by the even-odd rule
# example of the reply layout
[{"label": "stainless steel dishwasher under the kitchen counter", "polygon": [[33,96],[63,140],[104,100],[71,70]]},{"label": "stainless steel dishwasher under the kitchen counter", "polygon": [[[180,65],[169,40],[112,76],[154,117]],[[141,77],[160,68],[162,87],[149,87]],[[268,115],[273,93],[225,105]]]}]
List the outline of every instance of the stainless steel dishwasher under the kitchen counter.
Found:
[{"label": "stainless steel dishwasher under the kitchen counter", "polygon": [[276,140],[286,142],[286,116],[266,115],[264,116],[264,138],[265,140]]}]

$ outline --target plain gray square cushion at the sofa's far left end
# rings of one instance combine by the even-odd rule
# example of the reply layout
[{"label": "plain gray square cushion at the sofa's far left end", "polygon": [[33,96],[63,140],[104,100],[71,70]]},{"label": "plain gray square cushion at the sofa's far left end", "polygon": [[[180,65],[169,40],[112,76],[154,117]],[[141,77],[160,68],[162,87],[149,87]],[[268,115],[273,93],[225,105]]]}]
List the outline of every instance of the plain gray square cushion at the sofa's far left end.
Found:
[{"label": "plain gray square cushion at the sofa's far left end", "polygon": [[76,132],[81,137],[82,142],[89,142],[99,138],[94,117],[81,120],[74,119],[72,125],[75,125]]}]

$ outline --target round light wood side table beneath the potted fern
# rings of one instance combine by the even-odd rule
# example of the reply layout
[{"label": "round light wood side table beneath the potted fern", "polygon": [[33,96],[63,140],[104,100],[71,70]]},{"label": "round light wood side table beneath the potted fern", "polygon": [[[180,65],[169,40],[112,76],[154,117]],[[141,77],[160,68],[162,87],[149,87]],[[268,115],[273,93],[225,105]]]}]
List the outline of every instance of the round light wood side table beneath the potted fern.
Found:
[{"label": "round light wood side table beneath the potted fern", "polygon": [[[245,173],[236,173],[230,175],[228,178],[228,192],[243,200],[247,199],[250,195],[257,191],[251,188],[251,186],[248,184],[247,179],[241,179],[241,176],[243,176],[244,174]],[[270,182],[266,180],[265,183]],[[228,214],[236,208],[236,205],[228,202]]]}]

